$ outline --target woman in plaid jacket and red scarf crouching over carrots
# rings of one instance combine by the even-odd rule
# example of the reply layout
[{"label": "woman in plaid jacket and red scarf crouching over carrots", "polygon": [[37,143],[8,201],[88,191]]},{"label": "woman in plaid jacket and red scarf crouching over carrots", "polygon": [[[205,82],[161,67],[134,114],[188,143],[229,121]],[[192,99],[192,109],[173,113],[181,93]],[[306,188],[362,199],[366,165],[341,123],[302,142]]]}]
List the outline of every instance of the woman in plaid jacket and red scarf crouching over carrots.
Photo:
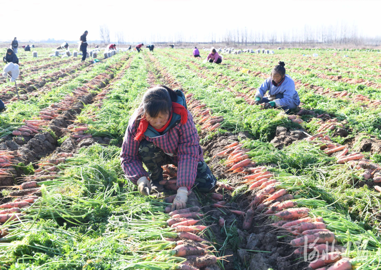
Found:
[{"label": "woman in plaid jacket and red scarf crouching over carrots", "polygon": [[158,183],[163,180],[162,166],[177,166],[178,190],[172,211],[185,208],[192,186],[207,193],[213,191],[216,184],[199,141],[183,93],[164,85],[150,88],[125,131],[120,154],[124,174],[138,185],[142,195],[148,195],[151,187],[157,191],[164,188]]}]

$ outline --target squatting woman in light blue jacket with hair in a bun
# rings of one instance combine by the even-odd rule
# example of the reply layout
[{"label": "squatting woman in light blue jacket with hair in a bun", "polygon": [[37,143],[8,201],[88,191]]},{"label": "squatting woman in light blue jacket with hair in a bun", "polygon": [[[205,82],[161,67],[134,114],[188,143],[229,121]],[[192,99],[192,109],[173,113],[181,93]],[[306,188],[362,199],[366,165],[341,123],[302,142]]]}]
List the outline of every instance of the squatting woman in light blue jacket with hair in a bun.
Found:
[{"label": "squatting woman in light blue jacket with hair in a bun", "polygon": [[[299,106],[298,92],[295,90],[293,79],[285,74],[284,62],[279,62],[271,71],[270,77],[257,89],[256,104],[269,104],[274,108],[281,108],[285,112]],[[268,96],[265,97],[266,92]]]}]

